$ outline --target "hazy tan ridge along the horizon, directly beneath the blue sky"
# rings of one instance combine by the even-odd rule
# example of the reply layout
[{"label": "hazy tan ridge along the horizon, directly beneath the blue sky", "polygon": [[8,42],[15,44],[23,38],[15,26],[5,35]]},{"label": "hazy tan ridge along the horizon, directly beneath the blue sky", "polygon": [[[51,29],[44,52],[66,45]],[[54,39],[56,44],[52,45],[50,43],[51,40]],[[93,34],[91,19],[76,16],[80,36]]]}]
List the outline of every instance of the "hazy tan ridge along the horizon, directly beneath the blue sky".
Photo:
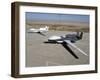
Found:
[{"label": "hazy tan ridge along the horizon, directly beneath the blue sky", "polygon": [[35,20],[26,20],[27,24],[47,24],[47,25],[63,25],[63,26],[84,26],[84,27],[89,27],[88,22],[73,22],[73,21],[35,21]]}]

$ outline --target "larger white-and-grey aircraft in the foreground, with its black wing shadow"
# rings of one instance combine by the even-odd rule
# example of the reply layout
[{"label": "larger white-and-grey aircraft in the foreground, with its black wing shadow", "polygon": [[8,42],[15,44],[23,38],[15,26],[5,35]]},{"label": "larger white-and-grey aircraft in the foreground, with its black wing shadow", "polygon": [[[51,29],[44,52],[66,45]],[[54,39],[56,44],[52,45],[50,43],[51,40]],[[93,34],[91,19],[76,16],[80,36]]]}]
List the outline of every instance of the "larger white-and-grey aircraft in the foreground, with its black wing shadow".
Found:
[{"label": "larger white-and-grey aircraft in the foreground, with its black wing shadow", "polygon": [[67,34],[65,36],[51,36],[48,38],[48,42],[45,43],[58,43],[62,44],[62,46],[67,49],[75,58],[79,58],[75,53],[71,50],[69,47],[72,46],[76,48],[78,51],[80,51],[82,54],[88,56],[84,51],[82,51],[80,48],[75,46],[73,43],[75,43],[78,40],[81,40],[83,36],[83,32],[77,32],[76,34]]}]

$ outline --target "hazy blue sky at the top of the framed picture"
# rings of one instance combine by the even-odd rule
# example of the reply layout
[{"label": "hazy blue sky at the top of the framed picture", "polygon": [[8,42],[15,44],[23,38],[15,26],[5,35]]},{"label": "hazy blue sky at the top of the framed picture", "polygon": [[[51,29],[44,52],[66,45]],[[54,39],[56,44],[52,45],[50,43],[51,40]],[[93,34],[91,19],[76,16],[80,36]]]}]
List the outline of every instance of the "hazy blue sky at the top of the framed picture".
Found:
[{"label": "hazy blue sky at the top of the framed picture", "polygon": [[26,12],[26,20],[89,22],[89,15]]}]

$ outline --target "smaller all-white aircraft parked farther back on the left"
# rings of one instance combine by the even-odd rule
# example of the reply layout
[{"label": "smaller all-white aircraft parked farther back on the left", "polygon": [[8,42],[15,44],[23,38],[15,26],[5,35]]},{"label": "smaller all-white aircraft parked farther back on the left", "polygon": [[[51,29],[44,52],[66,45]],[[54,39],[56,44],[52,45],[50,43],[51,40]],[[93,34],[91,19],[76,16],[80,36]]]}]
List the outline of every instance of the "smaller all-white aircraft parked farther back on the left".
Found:
[{"label": "smaller all-white aircraft parked farther back on the left", "polygon": [[45,35],[43,34],[43,32],[47,32],[47,31],[49,31],[49,27],[48,27],[48,26],[45,26],[45,27],[42,27],[42,28],[39,28],[39,29],[30,28],[30,29],[28,30],[29,33],[39,33],[39,34],[41,34],[41,35],[43,35],[43,36],[45,36]]}]

